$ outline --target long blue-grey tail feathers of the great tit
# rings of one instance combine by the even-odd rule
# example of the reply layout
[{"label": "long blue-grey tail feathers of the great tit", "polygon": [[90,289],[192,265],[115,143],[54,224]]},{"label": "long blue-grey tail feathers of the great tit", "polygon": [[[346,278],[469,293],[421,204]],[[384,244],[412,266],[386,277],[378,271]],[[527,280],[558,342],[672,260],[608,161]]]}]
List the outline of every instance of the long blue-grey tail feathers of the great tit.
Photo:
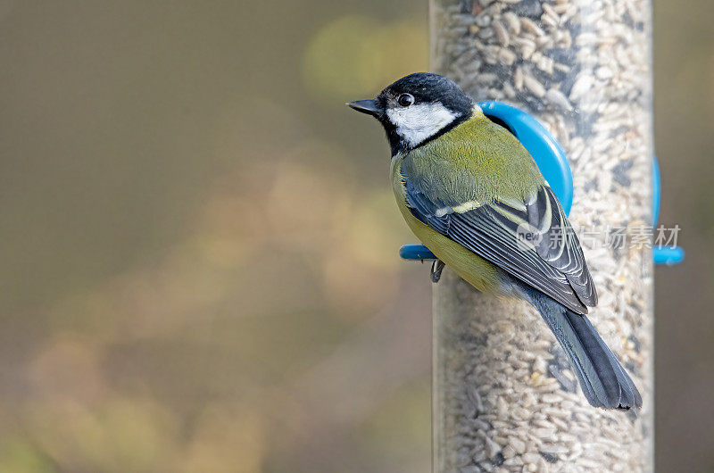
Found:
[{"label": "long blue-grey tail feathers of the great tit", "polygon": [[547,295],[534,293],[529,294],[531,302],[568,354],[587,401],[607,409],[642,407],[642,396],[635,383],[590,320]]}]

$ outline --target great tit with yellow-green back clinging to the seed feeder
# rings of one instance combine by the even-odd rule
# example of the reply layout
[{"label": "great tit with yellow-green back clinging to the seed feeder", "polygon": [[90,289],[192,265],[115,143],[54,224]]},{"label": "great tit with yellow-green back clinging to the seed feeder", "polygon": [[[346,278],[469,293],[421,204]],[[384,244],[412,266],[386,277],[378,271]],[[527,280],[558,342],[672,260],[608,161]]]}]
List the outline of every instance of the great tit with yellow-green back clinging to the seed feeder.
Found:
[{"label": "great tit with yellow-green back clinging to the seed feeder", "polygon": [[580,243],[533,157],[452,80],[416,73],[375,99],[348,104],[375,117],[392,150],[397,205],[419,240],[477,290],[531,303],[596,407],[642,397],[585,317],[597,294]]}]

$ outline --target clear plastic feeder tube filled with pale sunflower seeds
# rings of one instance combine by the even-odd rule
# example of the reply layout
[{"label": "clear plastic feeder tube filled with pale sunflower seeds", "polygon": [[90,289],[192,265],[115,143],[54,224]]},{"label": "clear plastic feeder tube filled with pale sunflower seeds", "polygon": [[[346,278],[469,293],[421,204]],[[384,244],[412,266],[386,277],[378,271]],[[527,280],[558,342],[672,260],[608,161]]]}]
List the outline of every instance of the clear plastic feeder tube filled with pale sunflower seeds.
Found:
[{"label": "clear plastic feeder tube filled with pale sunflower seeds", "polygon": [[[590,319],[643,394],[591,407],[540,316],[434,285],[434,471],[653,469],[651,10],[643,0],[432,0],[432,70],[532,113],[568,154]],[[447,267],[448,268],[448,267]]]}]

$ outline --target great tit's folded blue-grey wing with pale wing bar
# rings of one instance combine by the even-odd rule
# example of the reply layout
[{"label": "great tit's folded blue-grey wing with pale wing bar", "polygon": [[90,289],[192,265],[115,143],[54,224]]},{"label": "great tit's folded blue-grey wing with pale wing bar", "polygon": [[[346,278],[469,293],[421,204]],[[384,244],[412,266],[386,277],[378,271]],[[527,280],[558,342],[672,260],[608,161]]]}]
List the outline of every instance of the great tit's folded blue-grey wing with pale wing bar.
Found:
[{"label": "great tit's folded blue-grey wing with pale wing bar", "polygon": [[593,278],[558,199],[542,186],[527,202],[433,202],[404,178],[424,224],[577,313],[597,303]]}]

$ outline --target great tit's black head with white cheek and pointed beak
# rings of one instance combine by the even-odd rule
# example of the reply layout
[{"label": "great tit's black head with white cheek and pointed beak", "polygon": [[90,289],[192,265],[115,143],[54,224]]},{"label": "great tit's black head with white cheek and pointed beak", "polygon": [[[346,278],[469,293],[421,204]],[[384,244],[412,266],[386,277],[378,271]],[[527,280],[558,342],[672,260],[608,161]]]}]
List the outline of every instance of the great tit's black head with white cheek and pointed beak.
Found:
[{"label": "great tit's black head with white cheek and pointed beak", "polygon": [[417,72],[386,87],[375,99],[348,105],[382,123],[394,156],[440,137],[468,120],[474,103],[451,79]]}]

